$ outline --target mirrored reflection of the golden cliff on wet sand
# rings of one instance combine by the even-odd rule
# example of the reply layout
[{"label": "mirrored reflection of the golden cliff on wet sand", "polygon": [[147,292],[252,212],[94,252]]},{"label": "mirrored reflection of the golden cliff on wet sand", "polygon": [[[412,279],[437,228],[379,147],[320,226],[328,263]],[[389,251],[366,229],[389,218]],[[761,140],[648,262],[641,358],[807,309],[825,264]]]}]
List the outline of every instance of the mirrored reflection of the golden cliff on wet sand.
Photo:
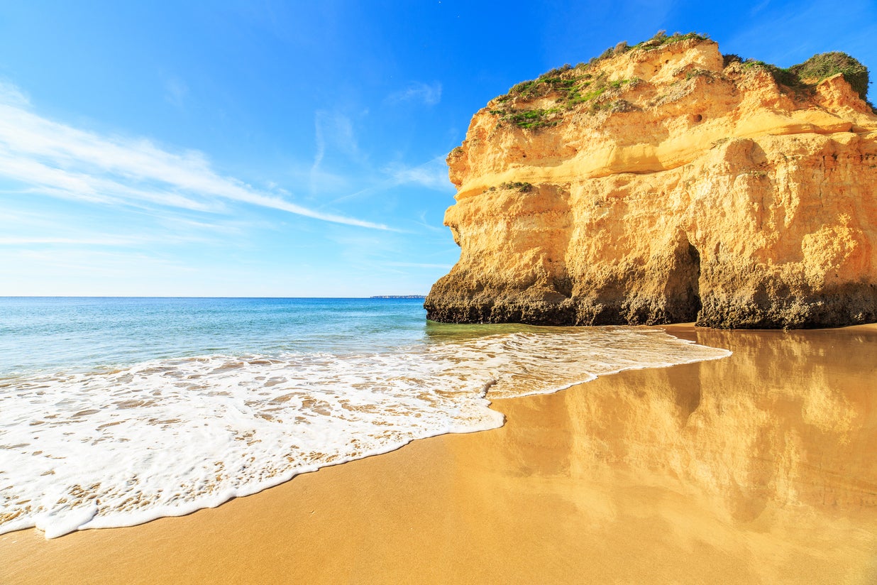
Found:
[{"label": "mirrored reflection of the golden cliff on wet sand", "polygon": [[678,334],[734,354],[602,377],[562,401],[495,403],[526,424],[496,434],[502,445],[486,459],[576,480],[571,490],[632,474],[641,486],[706,498],[733,523],[768,507],[874,515],[877,329]]}]

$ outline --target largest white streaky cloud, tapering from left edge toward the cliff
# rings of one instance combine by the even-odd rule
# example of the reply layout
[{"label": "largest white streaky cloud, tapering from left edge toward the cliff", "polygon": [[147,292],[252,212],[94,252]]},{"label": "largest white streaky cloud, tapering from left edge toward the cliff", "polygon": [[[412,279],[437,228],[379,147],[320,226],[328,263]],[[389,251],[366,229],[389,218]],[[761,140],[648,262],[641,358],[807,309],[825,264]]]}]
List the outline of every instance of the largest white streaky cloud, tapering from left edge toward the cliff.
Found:
[{"label": "largest white streaky cloud, tapering from left edge toward the cliff", "polygon": [[14,86],[0,86],[0,176],[33,192],[90,203],[223,211],[246,203],[306,218],[387,230],[386,225],[311,210],[219,175],[203,153],[173,153],[146,139],[103,136],[33,113]]}]

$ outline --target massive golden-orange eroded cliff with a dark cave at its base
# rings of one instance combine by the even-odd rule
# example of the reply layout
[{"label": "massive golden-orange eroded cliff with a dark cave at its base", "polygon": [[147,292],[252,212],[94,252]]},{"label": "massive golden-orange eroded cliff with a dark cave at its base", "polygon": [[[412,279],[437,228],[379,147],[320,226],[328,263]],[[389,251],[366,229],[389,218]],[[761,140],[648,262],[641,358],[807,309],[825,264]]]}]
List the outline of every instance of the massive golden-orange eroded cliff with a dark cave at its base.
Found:
[{"label": "massive golden-orange eroded cliff with a dark cave at its base", "polygon": [[[588,75],[596,97],[510,94],[475,114],[448,156],[460,261],[429,318],[877,320],[877,116],[842,75],[795,93],[702,39]],[[541,127],[511,119],[534,110]]]}]

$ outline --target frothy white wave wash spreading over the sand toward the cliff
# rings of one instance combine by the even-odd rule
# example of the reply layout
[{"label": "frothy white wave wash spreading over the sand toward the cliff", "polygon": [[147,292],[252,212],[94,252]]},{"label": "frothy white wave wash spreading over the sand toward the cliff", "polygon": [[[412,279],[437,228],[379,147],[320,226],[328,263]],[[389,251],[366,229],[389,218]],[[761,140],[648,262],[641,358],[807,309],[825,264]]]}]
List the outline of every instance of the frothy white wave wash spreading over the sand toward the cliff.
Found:
[{"label": "frothy white wave wash spreading over the sand toward the cliff", "polygon": [[613,328],[7,379],[0,533],[36,526],[53,538],[188,514],[413,439],[496,428],[503,416],[489,397],[726,355]]}]

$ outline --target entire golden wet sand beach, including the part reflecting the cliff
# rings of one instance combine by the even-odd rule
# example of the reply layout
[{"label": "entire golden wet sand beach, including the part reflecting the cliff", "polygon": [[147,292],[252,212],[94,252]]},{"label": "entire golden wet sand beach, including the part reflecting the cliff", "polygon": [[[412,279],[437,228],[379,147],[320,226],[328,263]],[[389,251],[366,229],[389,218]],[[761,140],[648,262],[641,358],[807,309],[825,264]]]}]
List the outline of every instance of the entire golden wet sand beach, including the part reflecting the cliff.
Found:
[{"label": "entire golden wet sand beach, including the part reflecting the cliff", "polygon": [[667,329],[734,355],[187,517],[6,534],[0,582],[877,582],[877,325]]}]

